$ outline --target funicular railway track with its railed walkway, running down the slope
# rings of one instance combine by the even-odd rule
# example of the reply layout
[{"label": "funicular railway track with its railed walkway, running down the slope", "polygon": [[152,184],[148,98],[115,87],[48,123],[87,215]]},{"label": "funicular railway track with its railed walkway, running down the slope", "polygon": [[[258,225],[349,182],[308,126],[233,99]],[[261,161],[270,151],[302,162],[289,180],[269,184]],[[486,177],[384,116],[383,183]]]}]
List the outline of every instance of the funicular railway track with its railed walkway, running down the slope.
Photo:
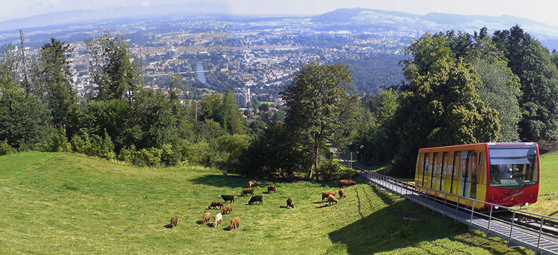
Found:
[{"label": "funicular railway track with its railed walkway, running down the slope", "polygon": [[[493,205],[492,211],[472,210],[470,207],[451,203],[440,197],[416,190],[413,184],[407,184],[404,181],[362,168],[341,155],[336,148],[331,148],[331,151],[340,159],[340,163],[352,167],[364,179],[391,190],[413,203],[420,204],[424,208],[431,209],[433,212],[469,225],[471,229],[482,230],[487,233],[487,237],[500,237],[508,241],[510,246],[523,246],[537,254],[558,254],[558,219],[556,218],[497,205]],[[439,192],[439,195],[445,193],[436,192]],[[486,203],[484,201],[476,202]],[[500,209],[495,210],[496,208]]]}]

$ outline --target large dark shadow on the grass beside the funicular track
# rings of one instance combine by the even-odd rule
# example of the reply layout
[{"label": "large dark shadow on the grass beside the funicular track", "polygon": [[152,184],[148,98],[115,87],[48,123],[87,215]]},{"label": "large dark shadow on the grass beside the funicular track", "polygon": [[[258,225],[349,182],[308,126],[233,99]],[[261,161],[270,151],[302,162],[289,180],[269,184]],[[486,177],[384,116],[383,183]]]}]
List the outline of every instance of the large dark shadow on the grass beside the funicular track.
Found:
[{"label": "large dark shadow on the grass beside the funicular track", "polygon": [[[331,243],[347,245],[348,254],[389,252],[416,247],[424,241],[451,239],[467,232],[466,225],[454,224],[451,219],[442,219],[439,215],[433,215],[430,210],[417,208],[409,201],[396,203],[395,197],[386,195],[377,187],[358,190],[355,197],[358,199],[359,214],[362,218],[329,233]],[[378,201],[370,199],[381,199],[386,207],[364,215],[363,212],[369,212],[379,205]],[[419,221],[408,221],[404,218]]]}]

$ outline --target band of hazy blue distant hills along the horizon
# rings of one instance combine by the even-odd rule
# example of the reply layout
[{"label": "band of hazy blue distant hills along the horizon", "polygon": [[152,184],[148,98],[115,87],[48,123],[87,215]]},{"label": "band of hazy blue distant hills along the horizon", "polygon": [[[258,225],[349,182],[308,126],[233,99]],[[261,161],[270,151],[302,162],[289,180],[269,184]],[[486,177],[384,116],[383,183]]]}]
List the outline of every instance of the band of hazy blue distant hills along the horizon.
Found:
[{"label": "band of hazy blue distant hills along the horizon", "polygon": [[[100,10],[77,10],[54,12],[24,19],[0,22],[0,41],[19,39],[18,29],[28,34],[41,34],[48,27],[50,32],[69,33],[76,26],[102,25],[110,27],[115,23],[183,21],[195,19],[214,19],[221,21],[257,22],[281,19],[280,16],[232,16],[227,14],[227,6],[213,1],[163,5],[158,8],[134,6],[128,8],[105,8]],[[297,16],[283,16],[296,19]],[[307,19],[298,16],[298,19]],[[516,16],[460,15],[431,12],[425,15],[364,8],[342,8],[318,16],[312,16],[311,23],[319,23],[322,29],[359,31],[363,27],[377,27],[378,32],[391,32],[394,36],[404,34],[416,37],[424,32],[455,30],[472,33],[487,27],[488,32],[508,30],[513,25],[521,27],[537,37],[548,49],[558,49],[558,27]],[[54,27],[54,29],[53,29]],[[59,34],[54,34],[59,36]]]}]

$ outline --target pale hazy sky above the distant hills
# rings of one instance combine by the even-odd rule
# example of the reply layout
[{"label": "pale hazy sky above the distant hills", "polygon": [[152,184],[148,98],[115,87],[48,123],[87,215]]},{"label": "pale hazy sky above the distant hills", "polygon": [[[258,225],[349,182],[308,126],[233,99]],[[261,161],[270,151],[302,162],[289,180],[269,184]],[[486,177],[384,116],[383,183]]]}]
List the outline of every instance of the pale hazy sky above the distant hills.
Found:
[{"label": "pale hazy sky above the distant hills", "polygon": [[[210,0],[211,1],[211,0]],[[198,0],[0,0],[0,21],[64,10],[87,10]],[[208,2],[207,0],[203,2]],[[337,8],[369,8],[413,14],[442,12],[464,15],[508,14],[558,26],[558,2],[548,0],[214,0],[231,14],[322,14]]]}]

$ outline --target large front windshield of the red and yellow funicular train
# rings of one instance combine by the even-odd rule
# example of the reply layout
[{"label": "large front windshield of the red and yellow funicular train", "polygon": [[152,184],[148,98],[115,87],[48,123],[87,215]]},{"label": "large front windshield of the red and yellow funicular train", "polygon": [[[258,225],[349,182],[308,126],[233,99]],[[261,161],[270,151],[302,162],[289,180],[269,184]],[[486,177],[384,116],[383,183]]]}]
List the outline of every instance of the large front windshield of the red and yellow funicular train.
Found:
[{"label": "large front windshield of the red and yellow funicular train", "polygon": [[516,189],[539,182],[536,144],[489,144],[490,186]]}]

